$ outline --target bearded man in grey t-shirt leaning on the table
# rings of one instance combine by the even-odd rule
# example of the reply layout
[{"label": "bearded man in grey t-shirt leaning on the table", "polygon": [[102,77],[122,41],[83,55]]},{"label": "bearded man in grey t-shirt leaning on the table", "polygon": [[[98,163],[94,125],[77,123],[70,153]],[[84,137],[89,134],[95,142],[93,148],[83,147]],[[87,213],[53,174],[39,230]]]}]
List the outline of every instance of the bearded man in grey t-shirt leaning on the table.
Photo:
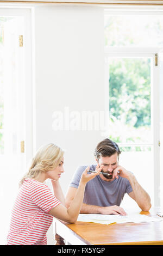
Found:
[{"label": "bearded man in grey t-shirt leaning on the table", "polygon": [[[98,143],[95,159],[100,166],[104,166],[101,171],[104,174],[99,174],[95,179],[87,182],[81,214],[126,215],[120,207],[125,193],[136,201],[141,210],[148,211],[151,208],[151,199],[137,182],[134,174],[118,164],[120,154],[118,145],[110,139],[106,138]],[[85,168],[86,166],[80,166],[74,173],[66,195],[67,208],[77,192],[80,176]],[[95,168],[96,165],[92,164],[87,169],[95,170]]]}]

